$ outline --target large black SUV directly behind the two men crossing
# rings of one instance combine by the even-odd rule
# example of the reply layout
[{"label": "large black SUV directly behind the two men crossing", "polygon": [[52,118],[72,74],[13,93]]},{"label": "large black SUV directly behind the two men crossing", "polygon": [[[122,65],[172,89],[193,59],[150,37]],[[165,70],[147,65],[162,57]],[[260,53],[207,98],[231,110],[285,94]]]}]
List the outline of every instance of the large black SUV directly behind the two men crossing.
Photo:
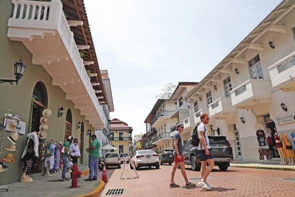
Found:
[{"label": "large black SUV directly behind the two men crossing", "polygon": [[[233,160],[232,148],[225,136],[208,136],[212,150],[214,164],[221,171],[226,171],[229,163]],[[191,145],[191,138],[183,144],[184,164],[191,165],[194,171],[200,170],[200,157],[197,147]]]}]

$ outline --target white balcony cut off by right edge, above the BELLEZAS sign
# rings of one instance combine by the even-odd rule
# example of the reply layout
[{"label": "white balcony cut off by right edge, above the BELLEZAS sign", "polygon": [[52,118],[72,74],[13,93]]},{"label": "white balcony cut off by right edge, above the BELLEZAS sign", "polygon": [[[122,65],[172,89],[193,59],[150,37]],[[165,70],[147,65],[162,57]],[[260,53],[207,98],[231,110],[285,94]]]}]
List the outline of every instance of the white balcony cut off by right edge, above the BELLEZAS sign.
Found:
[{"label": "white balcony cut off by right edge, above the BELLEZAS sign", "polygon": [[295,78],[295,51],[268,67],[273,87],[278,87]]}]

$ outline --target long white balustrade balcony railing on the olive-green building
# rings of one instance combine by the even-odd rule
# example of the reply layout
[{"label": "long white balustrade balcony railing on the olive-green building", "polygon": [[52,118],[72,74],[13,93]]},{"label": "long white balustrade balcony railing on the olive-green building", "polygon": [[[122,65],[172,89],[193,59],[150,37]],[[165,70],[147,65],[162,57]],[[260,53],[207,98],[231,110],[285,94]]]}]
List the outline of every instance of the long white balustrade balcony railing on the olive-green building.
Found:
[{"label": "long white balustrade balcony railing on the olive-green building", "polygon": [[[75,40],[73,38],[73,32],[70,30],[67,20],[65,18],[65,15],[63,13],[62,3],[60,2],[60,0],[51,0],[50,2],[33,1],[33,0],[12,0],[12,3],[14,4],[14,9],[13,9],[12,17],[9,18],[8,20],[8,32],[7,32],[7,36],[9,37],[9,39],[19,40],[19,41],[32,41],[35,38],[43,39],[43,37],[47,35],[56,36],[56,33],[57,33],[59,37],[61,38],[68,54],[64,58],[67,60],[67,58],[69,57],[75,68],[75,72],[72,72],[72,70],[69,70],[70,73],[72,73],[73,75],[77,73],[78,75],[77,78],[70,78],[70,79],[71,80],[75,79],[79,83],[83,84],[85,91],[87,92],[86,97],[89,96],[92,102],[92,106],[94,106],[95,111],[98,113],[97,115],[100,116],[101,118],[101,121],[99,121],[99,124],[100,125],[103,124],[101,127],[105,127],[106,117],[103,113],[103,109],[101,105],[98,103],[94,89],[89,80],[89,76],[84,67],[83,59],[80,57],[79,50],[75,44]],[[44,50],[48,52],[50,48],[51,47],[48,47],[48,49],[45,48]],[[49,52],[52,52],[52,51],[49,51]],[[44,56],[46,56],[46,58],[50,58],[51,57],[50,55],[54,56],[49,53],[46,53],[44,55],[42,54],[40,56],[38,56],[38,54],[36,53],[35,54],[33,53],[33,63],[41,64],[37,61],[41,57],[43,58]],[[62,59],[63,57],[58,57],[58,58],[54,57],[54,58],[55,58],[54,60],[47,59],[47,61],[45,62],[46,63],[55,62],[55,61],[59,62],[60,58]],[[55,76],[52,76],[53,80],[54,80],[54,77]],[[60,76],[58,77],[60,78]],[[64,79],[66,80],[66,77]],[[80,110],[81,109],[82,107],[80,107]],[[97,119],[97,116],[95,115],[93,116],[93,115],[94,114],[91,114],[91,117],[87,118],[89,119],[90,122],[94,122],[95,119]]]}]

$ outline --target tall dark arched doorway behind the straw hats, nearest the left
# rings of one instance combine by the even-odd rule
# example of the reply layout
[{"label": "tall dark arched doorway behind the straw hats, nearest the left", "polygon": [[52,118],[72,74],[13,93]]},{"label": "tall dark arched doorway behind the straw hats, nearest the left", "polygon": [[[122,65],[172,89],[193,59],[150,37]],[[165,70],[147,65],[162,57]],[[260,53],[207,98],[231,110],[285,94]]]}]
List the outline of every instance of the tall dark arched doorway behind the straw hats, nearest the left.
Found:
[{"label": "tall dark arched doorway behind the straw hats, nearest the left", "polygon": [[[42,116],[42,111],[47,108],[47,91],[43,82],[38,81],[33,89],[32,101],[31,101],[31,129],[32,131],[39,131],[40,118]],[[44,139],[39,139],[39,148],[44,144]],[[42,172],[42,160],[35,159],[32,164],[30,173],[39,173]]]}]

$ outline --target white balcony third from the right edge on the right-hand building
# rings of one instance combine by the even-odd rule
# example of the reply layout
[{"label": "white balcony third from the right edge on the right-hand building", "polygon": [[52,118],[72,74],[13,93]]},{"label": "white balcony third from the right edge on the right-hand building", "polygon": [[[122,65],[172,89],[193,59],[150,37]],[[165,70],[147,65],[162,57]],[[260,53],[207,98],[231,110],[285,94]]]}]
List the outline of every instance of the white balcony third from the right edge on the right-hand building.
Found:
[{"label": "white balcony third from the right edge on the right-hand building", "polygon": [[210,116],[216,115],[220,112],[231,112],[235,111],[232,107],[230,97],[220,97],[212,103],[208,104]]}]

